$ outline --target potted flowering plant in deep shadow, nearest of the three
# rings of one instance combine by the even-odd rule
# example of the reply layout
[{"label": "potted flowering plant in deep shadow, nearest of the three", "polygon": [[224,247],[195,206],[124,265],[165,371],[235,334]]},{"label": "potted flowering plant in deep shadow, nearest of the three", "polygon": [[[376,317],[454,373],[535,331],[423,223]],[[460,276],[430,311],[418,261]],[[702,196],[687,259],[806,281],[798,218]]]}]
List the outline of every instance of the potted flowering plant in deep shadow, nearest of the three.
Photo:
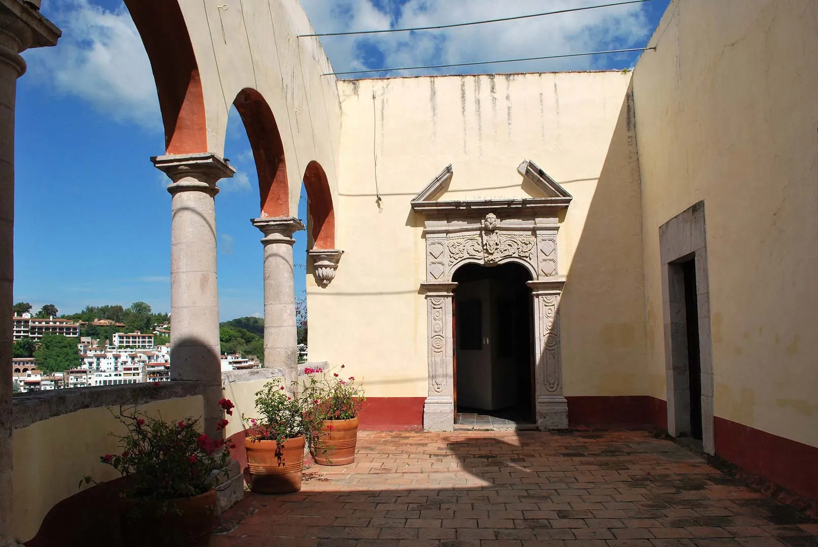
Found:
[{"label": "potted flowering plant in deep shadow, nearest of the three", "polygon": [[[232,414],[232,402],[218,404]],[[231,442],[202,433],[198,419],[164,421],[137,407],[126,412],[120,406],[114,413],[126,429],[124,435],[111,434],[122,451],[100,456],[101,463],[125,478],[119,507],[124,547],[209,545],[216,513],[213,488],[222,475],[229,478]],[[227,420],[220,420],[218,429],[226,425]],[[90,477],[83,481],[96,483]]]}]

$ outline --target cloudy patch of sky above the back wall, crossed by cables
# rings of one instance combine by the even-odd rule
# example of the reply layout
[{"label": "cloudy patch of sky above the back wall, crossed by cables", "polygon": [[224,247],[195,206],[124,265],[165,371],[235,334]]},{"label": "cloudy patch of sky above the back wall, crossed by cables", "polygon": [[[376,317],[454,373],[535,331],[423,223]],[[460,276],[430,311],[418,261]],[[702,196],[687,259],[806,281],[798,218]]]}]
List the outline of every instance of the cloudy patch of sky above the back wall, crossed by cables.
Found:
[{"label": "cloudy patch of sky above the back wall, crossed by cables", "polygon": [[[391,14],[378,11],[373,0],[336,0],[329,10],[326,0],[302,0],[302,4],[316,32],[325,33],[462,23],[585,7],[594,2],[515,0],[509,4],[497,0],[408,0],[402,7],[392,8]],[[620,49],[642,45],[652,30],[642,5],[628,4],[428,32],[325,37],[321,42],[333,68],[346,71],[367,66],[454,64]],[[373,47],[383,55],[382,63],[372,59],[367,63],[366,56],[374,51]],[[600,66],[598,62],[593,57],[573,57],[411,71],[411,74],[583,70]]]}]

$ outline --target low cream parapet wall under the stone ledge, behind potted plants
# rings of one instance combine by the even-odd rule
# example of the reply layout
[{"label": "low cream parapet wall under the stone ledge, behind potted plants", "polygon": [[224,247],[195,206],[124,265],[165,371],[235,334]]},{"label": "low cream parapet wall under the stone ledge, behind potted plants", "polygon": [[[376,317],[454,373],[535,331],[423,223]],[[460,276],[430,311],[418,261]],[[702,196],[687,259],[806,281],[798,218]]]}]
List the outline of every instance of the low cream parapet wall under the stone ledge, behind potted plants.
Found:
[{"label": "low cream parapet wall under the stone ledge, behind potted plants", "polygon": [[[117,439],[109,433],[124,434],[124,426],[111,416],[111,411],[119,408],[86,408],[15,430],[12,523],[17,539],[33,538],[48,511],[74,496],[85,475],[100,483],[119,477],[113,467],[99,460],[100,456],[118,452]],[[164,420],[200,418],[204,399],[196,395],[148,402],[140,405],[140,411],[149,416],[161,413]]]}]

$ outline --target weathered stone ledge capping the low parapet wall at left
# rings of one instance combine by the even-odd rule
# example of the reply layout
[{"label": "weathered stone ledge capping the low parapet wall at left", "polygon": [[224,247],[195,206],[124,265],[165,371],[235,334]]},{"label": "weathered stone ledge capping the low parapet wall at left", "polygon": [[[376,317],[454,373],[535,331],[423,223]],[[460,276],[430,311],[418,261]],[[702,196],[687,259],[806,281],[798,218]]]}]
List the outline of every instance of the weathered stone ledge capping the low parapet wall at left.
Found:
[{"label": "weathered stone ledge capping the low parapet wall at left", "polygon": [[111,407],[137,400],[140,404],[193,397],[202,394],[200,382],[169,382],[100,385],[87,388],[54,389],[16,394],[13,402],[14,429],[23,429],[38,421],[63,416],[83,408]]}]

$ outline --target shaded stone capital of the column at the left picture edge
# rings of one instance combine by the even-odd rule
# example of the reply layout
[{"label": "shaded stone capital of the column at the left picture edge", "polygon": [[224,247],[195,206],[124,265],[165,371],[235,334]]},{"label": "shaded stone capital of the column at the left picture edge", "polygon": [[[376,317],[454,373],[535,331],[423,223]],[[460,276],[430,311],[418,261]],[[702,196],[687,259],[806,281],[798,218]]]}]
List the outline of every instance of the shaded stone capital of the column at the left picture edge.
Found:
[{"label": "shaded stone capital of the column at the left picture edge", "polygon": [[62,31],[29,2],[0,0],[0,62],[10,64],[17,77],[25,73],[21,51],[29,47],[56,46]]}]

